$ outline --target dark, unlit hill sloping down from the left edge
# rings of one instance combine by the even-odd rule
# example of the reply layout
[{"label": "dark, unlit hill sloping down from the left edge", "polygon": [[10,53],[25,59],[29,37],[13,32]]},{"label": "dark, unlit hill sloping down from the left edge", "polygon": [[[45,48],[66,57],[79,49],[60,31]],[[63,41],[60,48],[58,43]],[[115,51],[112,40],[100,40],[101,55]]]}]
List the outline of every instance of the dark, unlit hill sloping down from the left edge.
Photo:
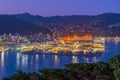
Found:
[{"label": "dark, unlit hill sloping down from the left edge", "polygon": [[20,34],[30,34],[42,32],[44,34],[50,33],[50,30],[39,25],[25,22],[16,19],[14,16],[10,15],[0,15],[0,34],[3,33],[20,33]]}]

